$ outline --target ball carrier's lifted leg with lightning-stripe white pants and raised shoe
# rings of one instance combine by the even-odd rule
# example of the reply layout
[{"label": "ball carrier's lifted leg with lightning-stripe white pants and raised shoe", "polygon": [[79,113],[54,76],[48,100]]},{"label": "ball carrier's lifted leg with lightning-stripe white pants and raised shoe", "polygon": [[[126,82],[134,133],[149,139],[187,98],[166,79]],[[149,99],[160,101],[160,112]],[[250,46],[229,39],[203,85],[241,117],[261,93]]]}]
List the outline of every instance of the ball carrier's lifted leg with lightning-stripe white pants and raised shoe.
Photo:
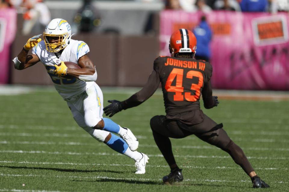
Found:
[{"label": "ball carrier's lifted leg with lightning-stripe white pants and raised shoe", "polygon": [[[93,128],[119,134],[120,137],[126,141],[126,143],[129,146],[129,149],[131,149],[132,151],[135,151],[138,148],[138,140],[136,139],[132,131],[130,131],[129,128],[121,127],[120,125],[113,122],[111,119],[102,118],[103,95],[99,86],[95,85],[89,88],[86,92],[87,94],[90,95],[89,97],[85,98],[85,101],[84,101],[85,103],[89,103],[85,105],[84,107],[86,116],[95,115],[95,116],[101,117],[101,121],[98,122],[98,124],[95,125]],[[91,118],[85,118],[85,119],[88,125],[92,126],[95,124],[93,119]]]}]

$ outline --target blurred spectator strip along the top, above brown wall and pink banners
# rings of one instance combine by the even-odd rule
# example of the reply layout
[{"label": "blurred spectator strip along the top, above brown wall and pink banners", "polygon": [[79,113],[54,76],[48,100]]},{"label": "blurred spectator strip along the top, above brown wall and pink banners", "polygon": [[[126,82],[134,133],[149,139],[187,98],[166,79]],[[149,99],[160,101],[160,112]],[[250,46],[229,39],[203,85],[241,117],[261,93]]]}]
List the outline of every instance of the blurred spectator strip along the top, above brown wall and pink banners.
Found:
[{"label": "blurred spectator strip along the top, above brown wall and pink banners", "polygon": [[[289,11],[288,0],[1,0],[0,7],[13,8],[23,16],[23,34],[42,31],[51,18],[65,17],[79,32],[156,35],[154,15],[161,10],[186,12],[214,10],[241,12]],[[128,11],[130,10],[130,11]],[[135,10],[135,12],[134,12]],[[123,12],[123,13],[122,13]],[[127,13],[127,15],[125,14]],[[121,17],[121,18],[120,18]],[[118,18],[118,19],[116,19]],[[119,19],[128,21],[118,22]],[[126,20],[128,19],[128,20]],[[113,22],[113,20],[117,22]],[[125,25],[125,27],[122,27]],[[37,29],[38,28],[38,29]],[[133,29],[138,28],[138,29]]]}]

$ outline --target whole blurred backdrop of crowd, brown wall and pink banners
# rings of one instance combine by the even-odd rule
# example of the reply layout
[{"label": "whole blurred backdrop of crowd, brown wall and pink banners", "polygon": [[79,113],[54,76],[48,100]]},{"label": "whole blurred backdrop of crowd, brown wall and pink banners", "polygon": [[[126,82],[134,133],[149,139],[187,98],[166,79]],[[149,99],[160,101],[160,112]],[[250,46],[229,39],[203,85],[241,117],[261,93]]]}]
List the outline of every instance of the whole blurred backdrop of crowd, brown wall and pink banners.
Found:
[{"label": "whole blurred backdrop of crowd, brown wall and pink banners", "polygon": [[[42,34],[51,19],[63,18],[75,39],[90,46],[100,85],[142,86],[154,58],[169,55],[169,34],[184,27],[197,37],[196,58],[229,67],[214,72],[214,88],[288,90],[288,11],[289,0],[0,0],[0,52],[9,50],[0,63],[0,83],[51,84],[42,66],[16,71],[11,59],[30,36]],[[248,38],[252,44],[242,45]],[[44,72],[33,77],[33,70]],[[225,78],[218,81],[220,76]],[[232,86],[224,83],[234,80]]]}]

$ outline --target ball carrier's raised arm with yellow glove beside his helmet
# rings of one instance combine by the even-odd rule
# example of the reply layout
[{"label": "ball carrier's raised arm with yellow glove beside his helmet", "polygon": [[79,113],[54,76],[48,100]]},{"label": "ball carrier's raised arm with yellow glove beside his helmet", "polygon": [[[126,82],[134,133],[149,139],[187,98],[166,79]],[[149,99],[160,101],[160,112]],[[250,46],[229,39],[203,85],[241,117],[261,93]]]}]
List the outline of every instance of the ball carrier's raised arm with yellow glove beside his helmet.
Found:
[{"label": "ball carrier's raised arm with yellow glove beside his helmet", "polygon": [[41,41],[41,38],[39,38],[40,36],[41,34],[35,35],[32,38],[30,38],[26,42],[20,53],[17,55],[17,57],[13,59],[15,69],[23,70],[26,69],[27,67],[31,67],[32,65],[40,61],[37,55],[35,54],[28,55],[29,50],[32,49],[36,44],[38,44]]}]

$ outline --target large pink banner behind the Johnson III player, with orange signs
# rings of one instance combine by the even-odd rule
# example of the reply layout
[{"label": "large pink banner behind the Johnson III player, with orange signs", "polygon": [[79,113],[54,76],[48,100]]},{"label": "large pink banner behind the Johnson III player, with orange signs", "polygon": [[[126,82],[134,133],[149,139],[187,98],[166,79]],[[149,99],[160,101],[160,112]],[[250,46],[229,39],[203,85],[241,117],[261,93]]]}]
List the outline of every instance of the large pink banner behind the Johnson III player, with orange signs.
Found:
[{"label": "large pink banner behind the Johnson III player, with orange signs", "polygon": [[[201,15],[162,11],[160,55],[169,55],[169,37],[174,30],[192,30]],[[214,88],[289,90],[288,13],[215,11],[206,17],[213,31]]]}]

